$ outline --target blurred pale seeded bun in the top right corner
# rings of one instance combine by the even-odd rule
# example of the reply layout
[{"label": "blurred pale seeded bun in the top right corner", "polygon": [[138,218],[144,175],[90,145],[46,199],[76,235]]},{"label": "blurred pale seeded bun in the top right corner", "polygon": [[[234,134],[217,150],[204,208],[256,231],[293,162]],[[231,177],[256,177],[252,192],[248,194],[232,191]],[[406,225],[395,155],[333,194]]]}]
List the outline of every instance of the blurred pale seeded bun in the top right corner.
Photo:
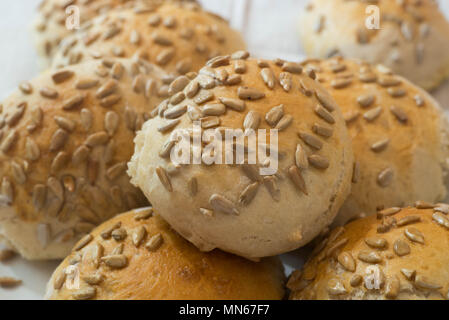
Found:
[{"label": "blurred pale seeded bun in the top right corner", "polygon": [[[369,5],[380,29],[368,29]],[[307,55],[342,55],[381,63],[424,89],[449,76],[449,23],[434,0],[312,0],[301,17]]]}]

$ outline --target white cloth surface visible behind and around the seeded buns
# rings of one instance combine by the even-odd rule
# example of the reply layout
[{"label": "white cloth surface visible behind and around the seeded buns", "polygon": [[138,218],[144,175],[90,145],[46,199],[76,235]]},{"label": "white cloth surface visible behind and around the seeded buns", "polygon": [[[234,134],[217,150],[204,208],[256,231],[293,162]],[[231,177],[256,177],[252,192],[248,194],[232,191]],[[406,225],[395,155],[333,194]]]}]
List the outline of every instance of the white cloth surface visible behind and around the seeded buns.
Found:
[{"label": "white cloth surface visible behind and around the seeded buns", "polygon": [[[390,0],[393,1],[393,0]],[[298,13],[306,0],[203,0],[203,5],[228,19],[240,30],[253,55],[288,60],[303,58],[297,36]],[[449,1],[440,1],[449,17]],[[30,36],[38,0],[0,0],[0,99],[39,72]],[[298,253],[283,257],[286,265],[299,266]],[[16,289],[1,289],[0,299],[40,299],[58,262],[26,262],[20,258],[0,264],[1,276],[24,281]],[[289,272],[290,268],[287,268]]]}]

